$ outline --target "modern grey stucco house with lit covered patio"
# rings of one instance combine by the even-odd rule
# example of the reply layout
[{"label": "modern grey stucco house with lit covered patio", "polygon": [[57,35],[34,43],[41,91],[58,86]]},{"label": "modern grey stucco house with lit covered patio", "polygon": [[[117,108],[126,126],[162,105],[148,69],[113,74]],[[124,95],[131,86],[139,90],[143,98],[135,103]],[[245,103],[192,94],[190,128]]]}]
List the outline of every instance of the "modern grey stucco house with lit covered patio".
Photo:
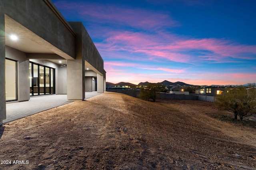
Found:
[{"label": "modern grey stucco house with lit covered patio", "polygon": [[66,21],[50,0],[0,0],[0,124],[9,101],[105,90],[104,61],[82,22]]}]

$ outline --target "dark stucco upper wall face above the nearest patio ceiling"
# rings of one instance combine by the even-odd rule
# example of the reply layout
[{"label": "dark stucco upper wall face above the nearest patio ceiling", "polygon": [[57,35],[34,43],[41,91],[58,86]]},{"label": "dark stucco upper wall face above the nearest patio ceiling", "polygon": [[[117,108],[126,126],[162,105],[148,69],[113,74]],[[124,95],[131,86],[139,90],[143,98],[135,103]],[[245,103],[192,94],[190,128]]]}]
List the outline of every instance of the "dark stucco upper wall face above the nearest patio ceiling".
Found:
[{"label": "dark stucco upper wall face above the nearest patio ceiling", "polygon": [[6,14],[42,39],[75,58],[75,35],[70,25],[48,0],[0,0]]}]

